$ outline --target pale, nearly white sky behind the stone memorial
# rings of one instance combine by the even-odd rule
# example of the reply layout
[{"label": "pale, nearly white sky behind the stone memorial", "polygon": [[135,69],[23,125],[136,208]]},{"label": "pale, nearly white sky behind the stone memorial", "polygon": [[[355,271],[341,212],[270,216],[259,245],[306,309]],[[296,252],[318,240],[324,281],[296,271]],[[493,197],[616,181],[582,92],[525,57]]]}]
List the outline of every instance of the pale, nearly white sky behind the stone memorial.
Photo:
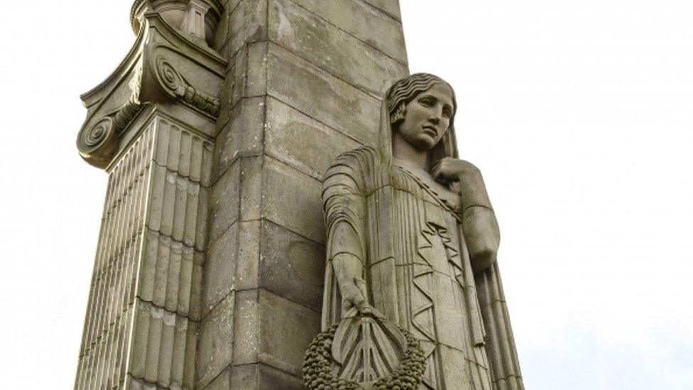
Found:
[{"label": "pale, nearly white sky behind the stone memorial", "polygon": [[[400,3],[410,68],[456,89],[501,223],[527,388],[693,389],[693,4]],[[130,4],[0,14],[4,388],[75,377],[106,187],[77,155],[79,95],[133,43]]]}]

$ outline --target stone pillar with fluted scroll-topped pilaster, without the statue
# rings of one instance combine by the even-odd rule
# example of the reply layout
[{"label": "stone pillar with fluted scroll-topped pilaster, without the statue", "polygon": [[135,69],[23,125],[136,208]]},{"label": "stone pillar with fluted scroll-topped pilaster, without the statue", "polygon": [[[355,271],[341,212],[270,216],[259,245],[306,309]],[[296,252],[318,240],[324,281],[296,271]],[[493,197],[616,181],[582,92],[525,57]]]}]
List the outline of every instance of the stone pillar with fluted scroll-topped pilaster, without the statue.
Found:
[{"label": "stone pillar with fluted scroll-topped pilaster, without the statue", "polygon": [[302,389],[322,174],[408,74],[397,0],[137,0],[82,95],[109,175],[75,389]]}]

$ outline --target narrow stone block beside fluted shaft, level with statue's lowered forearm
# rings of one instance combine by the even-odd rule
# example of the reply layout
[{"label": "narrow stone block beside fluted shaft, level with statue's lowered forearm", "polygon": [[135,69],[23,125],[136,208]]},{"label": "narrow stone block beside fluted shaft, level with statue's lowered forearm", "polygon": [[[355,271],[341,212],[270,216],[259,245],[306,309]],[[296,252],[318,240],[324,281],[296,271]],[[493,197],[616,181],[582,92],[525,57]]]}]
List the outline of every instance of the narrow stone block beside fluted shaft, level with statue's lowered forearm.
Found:
[{"label": "narrow stone block beside fluted shaft, level with statue's lowered forearm", "polygon": [[238,224],[234,223],[219,239],[209,245],[204,262],[202,316],[212,310],[219,300],[234,288],[236,255],[238,253]]}]

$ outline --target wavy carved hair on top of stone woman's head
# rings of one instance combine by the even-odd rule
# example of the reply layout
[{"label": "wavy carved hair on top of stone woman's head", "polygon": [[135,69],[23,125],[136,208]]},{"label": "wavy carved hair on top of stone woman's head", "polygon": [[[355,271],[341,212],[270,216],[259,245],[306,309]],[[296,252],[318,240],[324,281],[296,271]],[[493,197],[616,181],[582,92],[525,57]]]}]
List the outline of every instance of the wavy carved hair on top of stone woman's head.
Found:
[{"label": "wavy carved hair on top of stone woman's head", "polygon": [[[387,97],[390,123],[398,124],[400,121],[403,121],[407,104],[411,102],[416,95],[429,90],[430,87],[436,84],[443,84],[450,87],[445,80],[436,75],[430,75],[429,73],[414,73],[413,75],[409,75],[395,82],[390,88]],[[452,87],[450,87],[450,90],[452,90]],[[457,101],[454,97],[454,91],[452,92],[452,104],[454,105],[454,109],[452,118],[450,119],[450,126],[452,126],[454,114],[457,112]]]}]

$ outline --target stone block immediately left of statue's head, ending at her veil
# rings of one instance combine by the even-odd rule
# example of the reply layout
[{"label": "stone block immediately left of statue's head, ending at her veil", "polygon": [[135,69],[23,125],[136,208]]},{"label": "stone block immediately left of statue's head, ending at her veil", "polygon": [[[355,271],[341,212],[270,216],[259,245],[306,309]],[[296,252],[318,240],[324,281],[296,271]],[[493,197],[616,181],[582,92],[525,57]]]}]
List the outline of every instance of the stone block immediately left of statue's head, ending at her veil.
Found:
[{"label": "stone block immediately left of statue's head, ending at her veil", "polygon": [[376,143],[378,99],[278,45],[268,49],[268,94],[361,143]]}]

